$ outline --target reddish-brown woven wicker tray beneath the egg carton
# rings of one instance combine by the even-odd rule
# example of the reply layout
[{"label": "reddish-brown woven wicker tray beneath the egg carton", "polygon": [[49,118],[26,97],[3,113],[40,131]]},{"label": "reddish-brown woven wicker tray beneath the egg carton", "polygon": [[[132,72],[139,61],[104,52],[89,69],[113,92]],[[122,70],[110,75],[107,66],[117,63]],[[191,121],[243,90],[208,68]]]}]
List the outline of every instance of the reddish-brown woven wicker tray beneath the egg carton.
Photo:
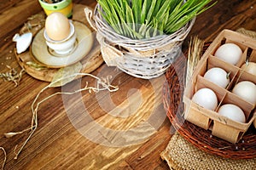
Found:
[{"label": "reddish-brown woven wicker tray beneath the egg carton", "polygon": [[[204,50],[210,43],[206,43]],[[166,71],[166,83],[163,88],[163,102],[166,115],[172,126],[184,139],[197,148],[208,153],[232,159],[250,159],[256,157],[256,133],[253,126],[237,144],[231,144],[224,139],[212,136],[210,130],[197,127],[183,118],[183,82],[186,71],[186,58],[179,57]]]}]

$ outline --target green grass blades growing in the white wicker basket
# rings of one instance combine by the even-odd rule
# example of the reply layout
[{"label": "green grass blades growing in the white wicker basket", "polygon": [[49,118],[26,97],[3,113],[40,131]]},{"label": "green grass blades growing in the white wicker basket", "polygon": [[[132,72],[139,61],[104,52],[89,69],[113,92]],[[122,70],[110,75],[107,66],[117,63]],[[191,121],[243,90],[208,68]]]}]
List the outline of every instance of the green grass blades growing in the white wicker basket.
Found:
[{"label": "green grass blades growing in the white wicker basket", "polygon": [[212,0],[97,0],[113,30],[125,37],[143,39],[172,34],[212,5]]}]

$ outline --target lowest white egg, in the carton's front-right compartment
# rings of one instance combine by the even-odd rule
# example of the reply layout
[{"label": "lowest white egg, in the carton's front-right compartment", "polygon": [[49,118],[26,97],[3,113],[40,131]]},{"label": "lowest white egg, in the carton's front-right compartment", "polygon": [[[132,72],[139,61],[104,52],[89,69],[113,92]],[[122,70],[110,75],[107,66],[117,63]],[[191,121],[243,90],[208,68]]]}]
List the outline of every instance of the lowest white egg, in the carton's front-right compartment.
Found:
[{"label": "lowest white egg, in the carton's front-right compartment", "polygon": [[222,105],[218,109],[218,114],[226,116],[229,119],[236,122],[246,122],[244,112],[237,105],[226,104]]}]

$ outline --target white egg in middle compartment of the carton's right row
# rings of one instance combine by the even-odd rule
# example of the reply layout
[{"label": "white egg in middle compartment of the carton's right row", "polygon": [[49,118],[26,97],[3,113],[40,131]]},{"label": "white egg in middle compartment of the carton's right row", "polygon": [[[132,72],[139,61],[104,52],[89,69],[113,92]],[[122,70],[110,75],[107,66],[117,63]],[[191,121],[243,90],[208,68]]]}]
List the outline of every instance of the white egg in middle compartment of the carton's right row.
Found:
[{"label": "white egg in middle compartment of the carton's right row", "polygon": [[253,82],[238,82],[233,88],[232,93],[240,96],[242,99],[245,99],[253,105],[256,104],[256,85]]}]

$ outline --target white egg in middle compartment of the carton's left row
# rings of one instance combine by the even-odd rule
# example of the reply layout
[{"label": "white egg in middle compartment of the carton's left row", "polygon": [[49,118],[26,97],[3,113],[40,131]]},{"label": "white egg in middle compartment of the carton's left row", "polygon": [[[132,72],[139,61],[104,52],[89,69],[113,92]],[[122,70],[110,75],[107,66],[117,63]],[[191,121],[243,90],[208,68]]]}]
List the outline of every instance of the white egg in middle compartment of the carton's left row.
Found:
[{"label": "white egg in middle compartment of the carton's left row", "polygon": [[218,86],[222,88],[226,88],[230,83],[230,77],[226,71],[222,68],[213,67],[212,69],[208,70],[204,77]]}]

